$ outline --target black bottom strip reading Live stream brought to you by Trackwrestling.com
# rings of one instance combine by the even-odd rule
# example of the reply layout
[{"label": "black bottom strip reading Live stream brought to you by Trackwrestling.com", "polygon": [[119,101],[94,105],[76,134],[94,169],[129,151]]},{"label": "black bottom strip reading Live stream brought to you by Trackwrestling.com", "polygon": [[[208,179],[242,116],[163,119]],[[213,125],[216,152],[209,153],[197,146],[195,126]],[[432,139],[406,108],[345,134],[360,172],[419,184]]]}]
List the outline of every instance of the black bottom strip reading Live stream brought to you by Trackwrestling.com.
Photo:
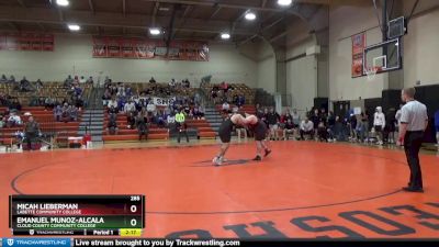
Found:
[{"label": "black bottom strip reading Live stream brought to you by Trackwrestling.com", "polygon": [[71,243],[72,247],[88,247],[88,246],[113,246],[113,247],[180,247],[180,246],[251,246],[251,247],[277,247],[277,246],[322,246],[322,247],[437,247],[439,246],[438,239],[372,239],[372,240],[316,240],[316,239],[282,239],[282,240],[245,240],[245,239],[150,239],[150,238],[75,238]]}]

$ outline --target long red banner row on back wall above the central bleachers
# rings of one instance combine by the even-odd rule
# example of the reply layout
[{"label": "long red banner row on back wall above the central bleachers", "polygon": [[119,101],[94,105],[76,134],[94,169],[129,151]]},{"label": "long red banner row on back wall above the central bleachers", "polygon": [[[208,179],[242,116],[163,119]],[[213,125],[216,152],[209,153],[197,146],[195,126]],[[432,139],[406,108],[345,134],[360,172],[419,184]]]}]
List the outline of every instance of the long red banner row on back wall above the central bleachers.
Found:
[{"label": "long red banner row on back wall above the central bleachers", "polygon": [[204,42],[175,41],[169,48],[157,40],[93,37],[95,58],[172,59],[209,61],[209,46]]}]

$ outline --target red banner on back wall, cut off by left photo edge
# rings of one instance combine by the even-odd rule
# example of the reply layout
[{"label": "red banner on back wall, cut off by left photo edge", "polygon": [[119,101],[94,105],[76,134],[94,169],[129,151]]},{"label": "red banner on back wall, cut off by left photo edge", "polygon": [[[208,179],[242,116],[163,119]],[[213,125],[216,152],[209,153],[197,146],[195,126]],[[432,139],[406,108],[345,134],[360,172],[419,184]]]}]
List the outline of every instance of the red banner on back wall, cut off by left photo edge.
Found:
[{"label": "red banner on back wall, cut off by left photo edge", "polygon": [[53,52],[55,46],[53,34],[3,33],[0,34],[0,50],[46,50]]}]

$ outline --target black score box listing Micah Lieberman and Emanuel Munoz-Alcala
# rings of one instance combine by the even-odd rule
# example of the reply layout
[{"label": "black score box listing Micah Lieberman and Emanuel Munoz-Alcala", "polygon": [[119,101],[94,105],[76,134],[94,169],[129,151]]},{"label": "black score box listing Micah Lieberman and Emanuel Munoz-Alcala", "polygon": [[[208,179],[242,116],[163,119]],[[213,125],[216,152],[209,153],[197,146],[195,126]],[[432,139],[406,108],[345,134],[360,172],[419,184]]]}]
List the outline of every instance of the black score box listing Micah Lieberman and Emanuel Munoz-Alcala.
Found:
[{"label": "black score box listing Micah Lieberman and Emanuel Munoz-Alcala", "polygon": [[10,195],[9,209],[9,226],[20,235],[145,227],[144,195]]}]

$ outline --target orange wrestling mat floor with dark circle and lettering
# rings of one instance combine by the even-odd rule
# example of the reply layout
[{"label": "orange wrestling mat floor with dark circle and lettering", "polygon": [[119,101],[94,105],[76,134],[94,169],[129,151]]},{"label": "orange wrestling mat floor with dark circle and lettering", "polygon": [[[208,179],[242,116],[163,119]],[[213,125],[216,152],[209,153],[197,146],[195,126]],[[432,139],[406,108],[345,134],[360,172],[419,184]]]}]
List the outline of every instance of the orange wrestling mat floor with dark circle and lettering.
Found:
[{"label": "orange wrestling mat floor with dark circle and lettering", "polygon": [[425,193],[407,193],[404,153],[350,144],[233,145],[213,167],[216,145],[103,148],[1,155],[0,225],[7,197],[145,194],[144,237],[429,238],[439,231],[439,157],[423,154]]}]

